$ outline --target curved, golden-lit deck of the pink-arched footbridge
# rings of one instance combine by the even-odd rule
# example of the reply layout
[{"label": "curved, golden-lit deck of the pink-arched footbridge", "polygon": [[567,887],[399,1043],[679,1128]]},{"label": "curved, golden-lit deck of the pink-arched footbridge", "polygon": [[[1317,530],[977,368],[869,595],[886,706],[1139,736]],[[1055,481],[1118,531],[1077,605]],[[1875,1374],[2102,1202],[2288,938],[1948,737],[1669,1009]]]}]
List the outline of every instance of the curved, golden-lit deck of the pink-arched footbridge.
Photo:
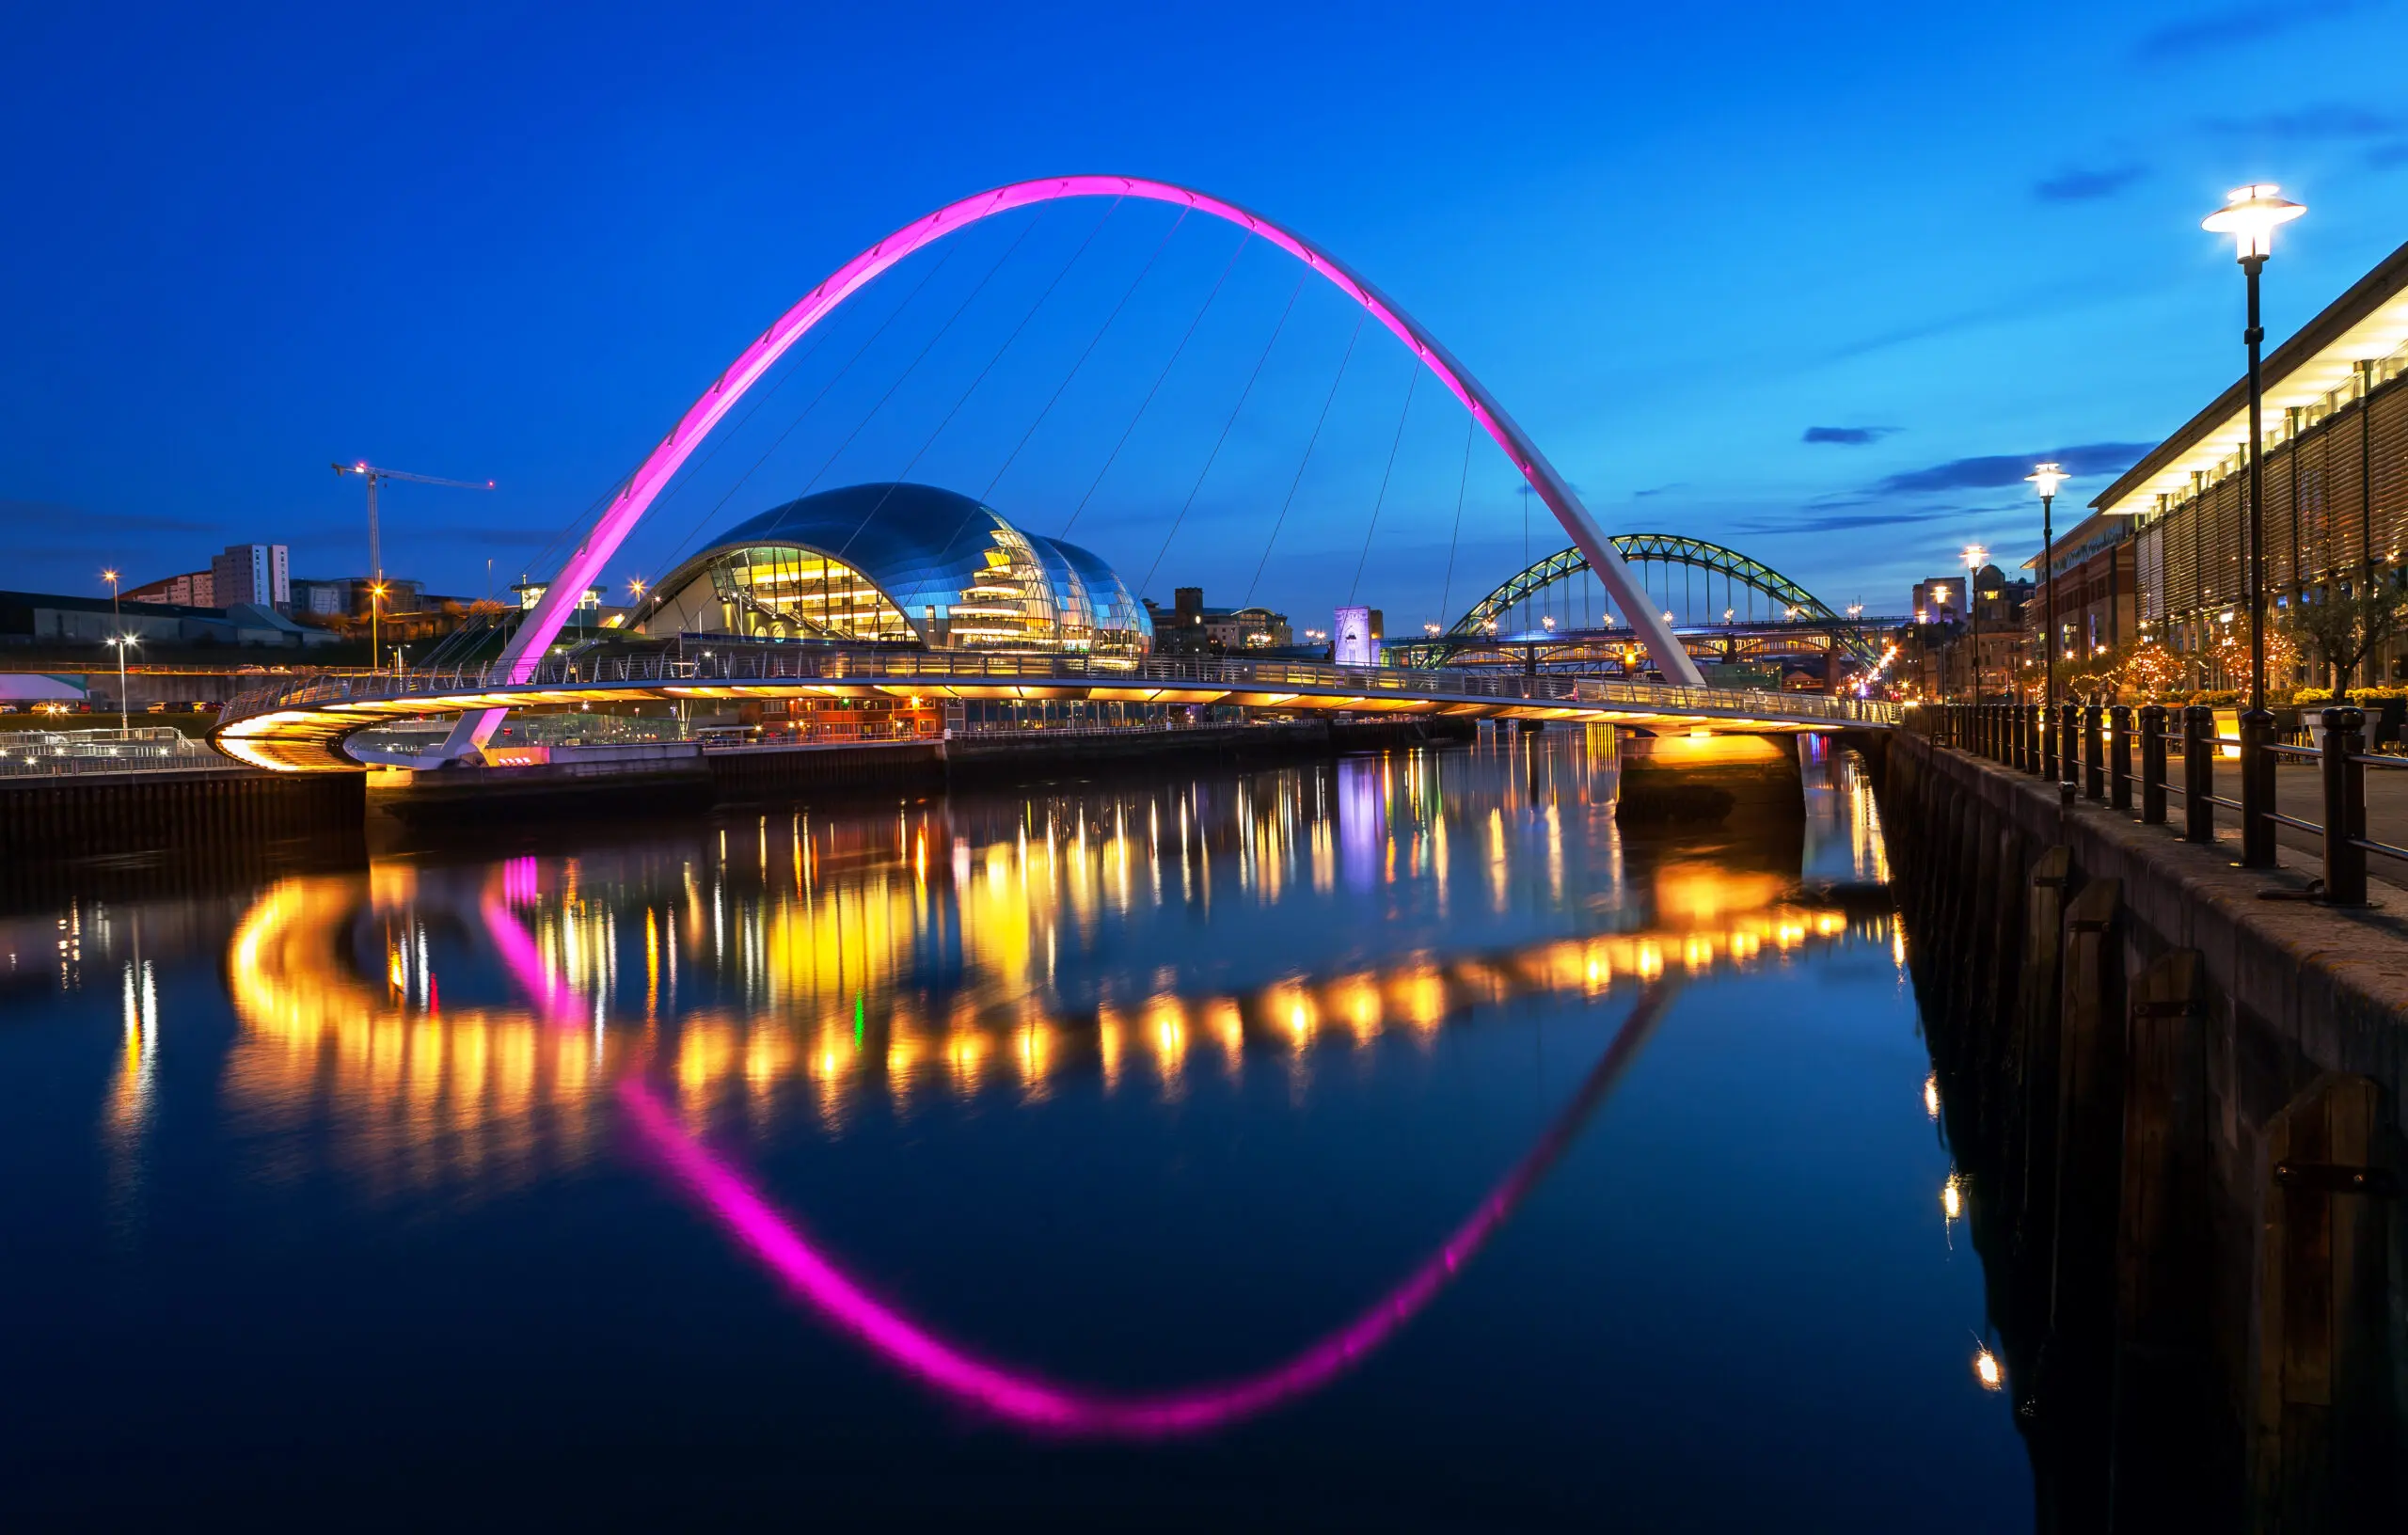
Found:
[{"label": "curved, golden-lit deck of the pink-arched footbridge", "polygon": [[1888,729],[1898,705],[1575,676],[1500,676],[1312,662],[1103,662],[934,652],[551,659],[520,683],[498,669],[296,676],[219,715],[219,751],[279,772],[359,772],[354,731],[467,710],[684,698],[980,698],[1247,705],[1293,712],[1568,719],[1652,729]]}]

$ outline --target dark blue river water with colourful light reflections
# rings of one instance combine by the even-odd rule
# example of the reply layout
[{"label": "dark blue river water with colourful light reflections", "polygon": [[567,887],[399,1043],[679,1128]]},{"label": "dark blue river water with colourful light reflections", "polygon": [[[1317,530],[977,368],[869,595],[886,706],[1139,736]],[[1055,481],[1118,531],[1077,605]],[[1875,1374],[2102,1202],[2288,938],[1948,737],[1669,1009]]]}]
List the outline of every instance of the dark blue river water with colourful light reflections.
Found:
[{"label": "dark blue river water with colourful light reflections", "polygon": [[1558,731],[19,900],[0,1523],[2030,1528],[1854,758],[1611,796]]}]

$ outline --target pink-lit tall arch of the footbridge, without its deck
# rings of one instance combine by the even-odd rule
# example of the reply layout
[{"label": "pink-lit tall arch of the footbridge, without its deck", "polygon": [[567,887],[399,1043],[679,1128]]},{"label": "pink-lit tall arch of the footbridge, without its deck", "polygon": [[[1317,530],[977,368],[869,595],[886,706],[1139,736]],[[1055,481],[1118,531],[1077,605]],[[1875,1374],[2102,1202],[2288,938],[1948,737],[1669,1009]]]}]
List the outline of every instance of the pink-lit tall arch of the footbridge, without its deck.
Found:
[{"label": "pink-lit tall arch of the footbridge, without its deck", "polygon": [[[535,611],[513,635],[508,650],[501,654],[508,681],[527,681],[535,676],[537,662],[542,662],[544,650],[551,645],[554,635],[568,621],[576,609],[578,594],[585,592],[602,575],[602,565],[619,549],[636,522],[653,505],[660,491],[669,484],[669,476],[686,462],[686,457],[701,445],[713,426],[734,407],[737,399],[751,390],[768,368],[785,356],[785,351],[802,339],[814,325],[828,318],[836,306],[840,306],[852,294],[862,291],[881,272],[901,262],[903,257],[922,250],[939,238],[978,224],[980,219],[992,219],[995,214],[1011,212],[1016,207],[1033,207],[1038,202],[1060,202],[1067,197],[1141,197],[1149,202],[1168,202],[1175,207],[1194,209],[1214,219],[1223,219],[1245,229],[1296,260],[1305,262],[1322,277],[1327,277],[1341,294],[1361,303],[1380,325],[1385,325],[1399,342],[1413,349],[1413,356],[1438,375],[1447,392],[1454,395],[1471,419],[1505,450],[1515,469],[1539,491],[1548,510],[1572,537],[1572,544],[1589,556],[1589,568],[1604,582],[1611,599],[1618,604],[1623,616],[1637,630],[1640,640],[1647,645],[1647,654],[1657,659],[1664,676],[1683,686],[1702,686],[1695,662],[1681,650],[1671,630],[1657,616],[1654,604],[1647,592],[1633,580],[1630,568],[1623,565],[1621,553],[1606,539],[1604,529],[1572,493],[1572,486],[1546,462],[1539,445],[1529,440],[1505,407],[1481,385],[1471,373],[1438,344],[1428,330],[1421,327],[1411,315],[1389,303],[1375,286],[1356,277],[1341,260],[1305,243],[1300,236],[1271,224],[1262,214],[1252,214],[1235,202],[1223,202],[1204,192],[1170,185],[1168,180],[1144,180],[1137,176],[1055,176],[1045,180],[1016,180],[990,192],[978,192],[975,197],[963,197],[915,219],[903,229],[893,231],[869,250],[855,255],[850,262],[838,267],[826,281],[802,296],[795,308],[778,315],[761,337],[746,346],[734,363],[720,373],[694,407],[679,419],[667,438],[636,467],[619,496],[612,498],[609,508],[595,522],[595,529],[585,541],[568,556],[561,573],[551,577],[549,589]],[[503,710],[479,710],[465,715],[453,729],[450,741],[445,741],[445,753],[458,755],[470,746],[484,743],[494,727],[501,722]]]}]

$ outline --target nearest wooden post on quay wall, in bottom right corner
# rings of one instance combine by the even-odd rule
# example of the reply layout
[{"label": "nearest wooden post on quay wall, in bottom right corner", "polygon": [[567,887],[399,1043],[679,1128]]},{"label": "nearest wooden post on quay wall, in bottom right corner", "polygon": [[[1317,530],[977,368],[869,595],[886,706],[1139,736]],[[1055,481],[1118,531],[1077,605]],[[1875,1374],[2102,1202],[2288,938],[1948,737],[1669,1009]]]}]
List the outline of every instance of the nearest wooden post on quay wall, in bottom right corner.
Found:
[{"label": "nearest wooden post on quay wall, in bottom right corner", "polygon": [[2329,1073],[2266,1126],[2251,1530],[2398,1530],[2389,1379],[2398,1169],[2382,1090]]}]

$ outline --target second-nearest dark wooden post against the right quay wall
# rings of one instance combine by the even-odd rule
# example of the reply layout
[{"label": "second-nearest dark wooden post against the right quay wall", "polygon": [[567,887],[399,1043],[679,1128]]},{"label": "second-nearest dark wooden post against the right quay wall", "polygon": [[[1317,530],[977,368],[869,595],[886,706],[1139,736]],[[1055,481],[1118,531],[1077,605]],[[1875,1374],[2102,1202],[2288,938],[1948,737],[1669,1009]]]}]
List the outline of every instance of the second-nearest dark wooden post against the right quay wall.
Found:
[{"label": "second-nearest dark wooden post against the right quay wall", "polygon": [[2114,1530],[2230,1525],[2237,1494],[2215,1475],[2235,1463],[2235,1436],[2211,1335],[2206,1023],[2196,948],[2133,977],[2117,1220]]}]

